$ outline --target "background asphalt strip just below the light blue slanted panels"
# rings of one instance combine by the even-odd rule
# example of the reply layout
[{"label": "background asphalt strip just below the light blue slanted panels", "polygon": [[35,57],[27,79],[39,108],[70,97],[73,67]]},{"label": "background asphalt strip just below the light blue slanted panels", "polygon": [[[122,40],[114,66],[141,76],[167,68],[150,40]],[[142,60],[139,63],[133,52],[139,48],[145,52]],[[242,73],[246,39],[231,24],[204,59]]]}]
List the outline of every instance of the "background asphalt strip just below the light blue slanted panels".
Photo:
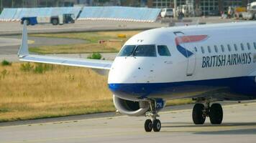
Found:
[{"label": "background asphalt strip just below the light blue slanted panels", "polygon": [[[78,31],[105,31],[105,30],[129,30],[129,29],[152,29],[168,24],[142,23],[127,21],[76,21],[75,24],[52,26],[51,24],[37,24],[27,26],[29,34],[35,33],[60,33]],[[0,22],[0,35],[22,34],[22,24],[19,21]]]}]

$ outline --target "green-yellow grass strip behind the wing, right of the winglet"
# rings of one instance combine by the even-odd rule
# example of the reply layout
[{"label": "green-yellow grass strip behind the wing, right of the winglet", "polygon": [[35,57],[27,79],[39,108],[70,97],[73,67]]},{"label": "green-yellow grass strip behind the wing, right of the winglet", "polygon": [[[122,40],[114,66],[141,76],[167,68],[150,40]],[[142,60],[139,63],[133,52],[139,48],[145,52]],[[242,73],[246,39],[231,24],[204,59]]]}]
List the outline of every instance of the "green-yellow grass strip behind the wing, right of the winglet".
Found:
[{"label": "green-yellow grass strip behind the wing, right of the winglet", "polygon": [[[80,32],[70,34],[31,34],[29,36],[44,36],[53,38],[83,39],[84,44],[68,44],[57,46],[31,47],[29,51],[40,54],[81,54],[81,53],[115,53],[118,52],[125,41],[140,31],[99,31]],[[125,38],[120,38],[119,34],[125,34]],[[117,41],[109,41],[109,40]],[[105,42],[99,44],[100,40]]]}]

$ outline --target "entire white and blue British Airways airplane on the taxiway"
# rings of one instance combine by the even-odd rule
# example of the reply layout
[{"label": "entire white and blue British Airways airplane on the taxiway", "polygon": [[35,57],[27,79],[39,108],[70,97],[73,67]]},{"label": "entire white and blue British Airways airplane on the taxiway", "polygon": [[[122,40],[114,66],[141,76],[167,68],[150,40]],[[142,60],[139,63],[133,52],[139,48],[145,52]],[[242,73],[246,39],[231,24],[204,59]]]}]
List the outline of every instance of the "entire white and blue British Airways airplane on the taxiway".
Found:
[{"label": "entire white and blue British Airways airplane on the taxiway", "polygon": [[146,116],[146,132],[160,132],[169,99],[191,98],[194,124],[221,124],[219,101],[256,99],[256,23],[163,27],[132,36],[114,61],[29,54],[24,24],[20,61],[109,71],[116,109]]}]

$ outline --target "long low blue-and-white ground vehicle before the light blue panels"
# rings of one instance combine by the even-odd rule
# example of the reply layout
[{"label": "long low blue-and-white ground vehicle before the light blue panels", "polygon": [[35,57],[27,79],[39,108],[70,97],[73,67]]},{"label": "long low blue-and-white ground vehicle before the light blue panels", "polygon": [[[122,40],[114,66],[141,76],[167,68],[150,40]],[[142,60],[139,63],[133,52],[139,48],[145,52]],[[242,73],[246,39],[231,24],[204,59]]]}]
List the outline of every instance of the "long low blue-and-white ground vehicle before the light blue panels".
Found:
[{"label": "long low blue-and-white ground vehicle before the light blue panels", "polygon": [[21,24],[27,21],[27,25],[35,24],[52,24],[52,25],[62,25],[62,24],[73,24],[75,23],[74,14],[63,14],[58,16],[50,17],[22,17]]}]

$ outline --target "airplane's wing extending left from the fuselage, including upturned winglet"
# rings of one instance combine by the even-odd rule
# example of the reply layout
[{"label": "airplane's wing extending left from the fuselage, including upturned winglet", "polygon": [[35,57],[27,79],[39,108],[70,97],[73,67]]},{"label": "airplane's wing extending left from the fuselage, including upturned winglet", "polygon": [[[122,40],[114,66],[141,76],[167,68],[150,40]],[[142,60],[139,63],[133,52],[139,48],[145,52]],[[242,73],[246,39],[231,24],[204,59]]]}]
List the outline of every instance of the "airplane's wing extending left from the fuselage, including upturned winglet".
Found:
[{"label": "airplane's wing extending left from the fuselage, including upturned winglet", "polygon": [[92,69],[110,69],[113,61],[105,61],[98,59],[73,59],[57,56],[41,56],[36,54],[29,54],[27,44],[27,24],[24,23],[22,32],[22,44],[18,52],[20,61],[32,61],[45,64],[61,64],[66,66],[81,66]]}]

